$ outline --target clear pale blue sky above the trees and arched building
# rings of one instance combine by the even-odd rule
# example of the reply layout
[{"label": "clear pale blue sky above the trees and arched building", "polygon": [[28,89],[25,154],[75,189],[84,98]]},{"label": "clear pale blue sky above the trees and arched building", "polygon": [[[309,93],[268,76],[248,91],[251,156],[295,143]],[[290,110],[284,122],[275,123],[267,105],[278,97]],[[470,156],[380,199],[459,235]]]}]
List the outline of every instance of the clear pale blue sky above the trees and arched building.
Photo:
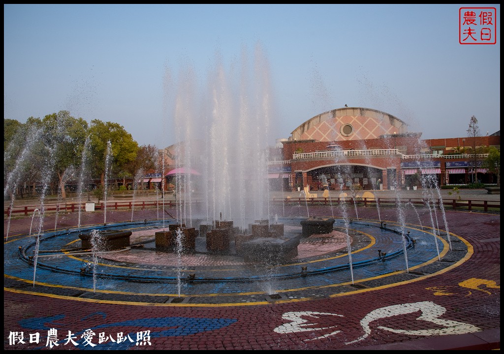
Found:
[{"label": "clear pale blue sky above the trees and arched building", "polygon": [[[459,44],[459,8],[495,7],[494,45]],[[140,145],[175,142],[163,78],[207,75],[261,43],[271,138],[331,109],[366,107],[422,138],[500,130],[500,5],[4,5],[4,118],[62,109],[113,121]]]}]

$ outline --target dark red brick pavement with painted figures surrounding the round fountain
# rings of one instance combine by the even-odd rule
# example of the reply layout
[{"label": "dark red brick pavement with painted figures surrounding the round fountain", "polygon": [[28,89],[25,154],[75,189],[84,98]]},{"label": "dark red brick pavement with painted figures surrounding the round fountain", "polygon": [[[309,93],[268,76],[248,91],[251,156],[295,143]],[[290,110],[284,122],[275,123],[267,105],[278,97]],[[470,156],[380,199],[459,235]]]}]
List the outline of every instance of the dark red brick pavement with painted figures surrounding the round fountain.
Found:
[{"label": "dark red brick pavement with painted figures surrounding the round fountain", "polygon": [[[331,215],[328,208],[311,210],[310,216]],[[136,217],[142,220],[148,213],[152,215],[152,210],[139,210]],[[101,222],[97,220],[100,213],[89,214],[92,217],[86,216],[82,224]],[[466,262],[420,281],[330,299],[260,306],[132,306],[4,290],[4,349],[49,348],[50,328],[57,330],[59,339],[52,349],[91,348],[86,342],[91,337],[95,349],[500,348],[500,216],[455,211],[446,215],[450,232],[474,248]],[[396,220],[397,213],[384,208],[381,216],[382,220]],[[376,219],[376,210],[359,209],[359,217]],[[421,218],[428,223],[425,215]],[[11,237],[27,233],[30,219],[12,220]],[[44,228],[53,228],[54,219],[46,219]],[[107,215],[110,223],[123,220],[128,220],[128,213],[111,211]],[[71,225],[75,215],[61,217],[61,221]],[[411,219],[407,222],[415,224]],[[439,224],[444,229],[441,221]],[[419,319],[421,313],[424,317]],[[86,337],[87,329],[95,335]],[[65,344],[69,331],[78,345]],[[144,344],[146,338],[137,334],[145,331],[150,331],[150,344],[135,345],[137,340]],[[10,344],[10,335],[16,332],[23,332],[25,343],[18,337]],[[39,343],[30,343],[30,334],[37,332]],[[117,343],[121,332],[130,333],[132,341],[126,338]],[[461,332],[467,333],[451,334]],[[100,333],[108,336],[102,343]]]}]

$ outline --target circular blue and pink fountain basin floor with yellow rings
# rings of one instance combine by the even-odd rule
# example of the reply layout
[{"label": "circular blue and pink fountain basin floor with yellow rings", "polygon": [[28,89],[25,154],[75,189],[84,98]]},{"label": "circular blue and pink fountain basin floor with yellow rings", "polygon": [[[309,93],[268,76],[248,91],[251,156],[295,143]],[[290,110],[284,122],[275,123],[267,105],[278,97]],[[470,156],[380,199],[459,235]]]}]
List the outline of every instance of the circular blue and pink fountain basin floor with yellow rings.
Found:
[{"label": "circular blue and pink fountain basin floor with yellow rings", "polygon": [[[51,292],[51,289],[57,288],[58,293],[69,297],[91,296],[93,299],[141,302],[147,299],[149,302],[166,302],[167,298],[179,294],[180,290],[180,297],[191,298],[188,304],[254,303],[257,301],[257,294],[264,293],[266,288],[274,288],[277,292],[289,289],[290,296],[296,299],[305,296],[327,297],[335,292],[351,291],[351,287],[343,286],[352,280],[347,241],[351,243],[353,277],[361,284],[367,284],[365,279],[370,274],[373,278],[381,275],[385,276],[385,279],[398,277],[397,281],[404,280],[403,275],[402,280],[399,279],[400,270],[404,269],[404,257],[402,238],[397,234],[399,229],[397,224],[389,222],[388,228],[380,228],[380,224],[373,221],[354,221],[349,234],[346,235],[344,221],[336,220],[331,234],[301,237],[300,221],[298,218],[282,220],[285,225],[285,238],[299,239],[298,255],[283,259],[274,265],[256,262],[254,259],[251,262],[248,259],[247,262],[245,258],[250,257],[249,252],[247,255],[236,252],[232,241],[229,243],[230,251],[226,254],[208,252],[203,236],[196,238],[194,253],[181,254],[180,258],[177,258],[175,253],[156,250],[154,234],[160,231],[159,222],[109,225],[107,226],[109,230],[128,230],[133,234],[130,247],[97,254],[99,260],[95,274],[96,292],[90,291],[94,286],[93,274],[80,272],[82,264],[91,260],[92,253],[83,252],[74,246],[75,241],[79,240],[78,235],[83,231],[47,233],[40,241],[36,275],[36,280],[40,283],[37,286],[44,288],[44,284],[52,284],[44,291]],[[104,227],[96,226],[96,228]],[[90,230],[92,228],[88,231]],[[445,258],[446,254],[449,254],[454,261],[457,261],[466,254],[466,252],[448,252],[447,242],[440,240],[439,237],[433,237],[429,232],[415,228],[409,231],[411,238],[416,240],[415,248],[412,243],[408,245],[410,270],[437,260],[434,239],[442,244],[439,248]],[[280,247],[280,242],[275,240],[278,239],[267,238],[271,249]],[[466,247],[462,242],[452,244]],[[34,247],[35,242],[32,238],[7,243],[5,273],[31,279],[33,266],[29,264],[29,257],[32,257]],[[62,251],[56,252],[58,249]],[[379,257],[378,249],[387,254],[386,259]],[[454,261],[438,262],[436,269],[451,266]],[[416,275],[411,271],[409,274],[413,277],[423,275],[418,271]],[[383,284],[383,281],[376,284]],[[177,288],[177,284],[181,289]],[[328,287],[328,284],[334,286]],[[373,284],[373,281],[370,280],[369,284]],[[89,295],[85,289],[88,289]],[[39,291],[43,292],[42,289]],[[122,295],[123,292],[128,295]]]}]

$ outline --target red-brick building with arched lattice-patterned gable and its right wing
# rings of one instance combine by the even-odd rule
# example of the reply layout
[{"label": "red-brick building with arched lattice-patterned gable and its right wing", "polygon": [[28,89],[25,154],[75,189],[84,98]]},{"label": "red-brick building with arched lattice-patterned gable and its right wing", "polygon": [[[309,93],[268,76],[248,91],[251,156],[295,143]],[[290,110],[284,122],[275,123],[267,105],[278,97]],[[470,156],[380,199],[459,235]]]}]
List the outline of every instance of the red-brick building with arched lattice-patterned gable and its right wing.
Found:
[{"label": "red-brick building with arched lattice-patterned gable and its right wing", "polygon": [[481,167],[485,154],[469,154],[468,149],[500,148],[500,134],[427,140],[421,135],[403,120],[375,109],[324,112],[282,139],[280,156],[269,162],[270,185],[292,190],[307,185],[311,190],[326,185],[336,190],[388,189],[420,186],[419,175],[436,185],[495,182]]}]

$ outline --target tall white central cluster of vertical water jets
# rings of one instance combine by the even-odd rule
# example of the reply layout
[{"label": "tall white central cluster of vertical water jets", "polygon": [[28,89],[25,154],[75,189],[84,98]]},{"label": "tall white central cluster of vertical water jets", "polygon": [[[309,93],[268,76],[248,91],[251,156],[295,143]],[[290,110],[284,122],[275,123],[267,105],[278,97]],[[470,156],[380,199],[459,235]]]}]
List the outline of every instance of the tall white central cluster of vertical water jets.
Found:
[{"label": "tall white central cluster of vertical water jets", "polygon": [[[260,46],[249,60],[226,70],[219,53],[204,89],[185,62],[175,99],[177,195],[184,197],[177,218],[191,222],[196,212],[207,222],[234,220],[242,229],[269,218],[268,132],[271,89],[268,63]],[[193,193],[194,191],[194,193]],[[192,209],[198,196],[204,205]],[[187,220],[188,219],[188,220]]]}]

